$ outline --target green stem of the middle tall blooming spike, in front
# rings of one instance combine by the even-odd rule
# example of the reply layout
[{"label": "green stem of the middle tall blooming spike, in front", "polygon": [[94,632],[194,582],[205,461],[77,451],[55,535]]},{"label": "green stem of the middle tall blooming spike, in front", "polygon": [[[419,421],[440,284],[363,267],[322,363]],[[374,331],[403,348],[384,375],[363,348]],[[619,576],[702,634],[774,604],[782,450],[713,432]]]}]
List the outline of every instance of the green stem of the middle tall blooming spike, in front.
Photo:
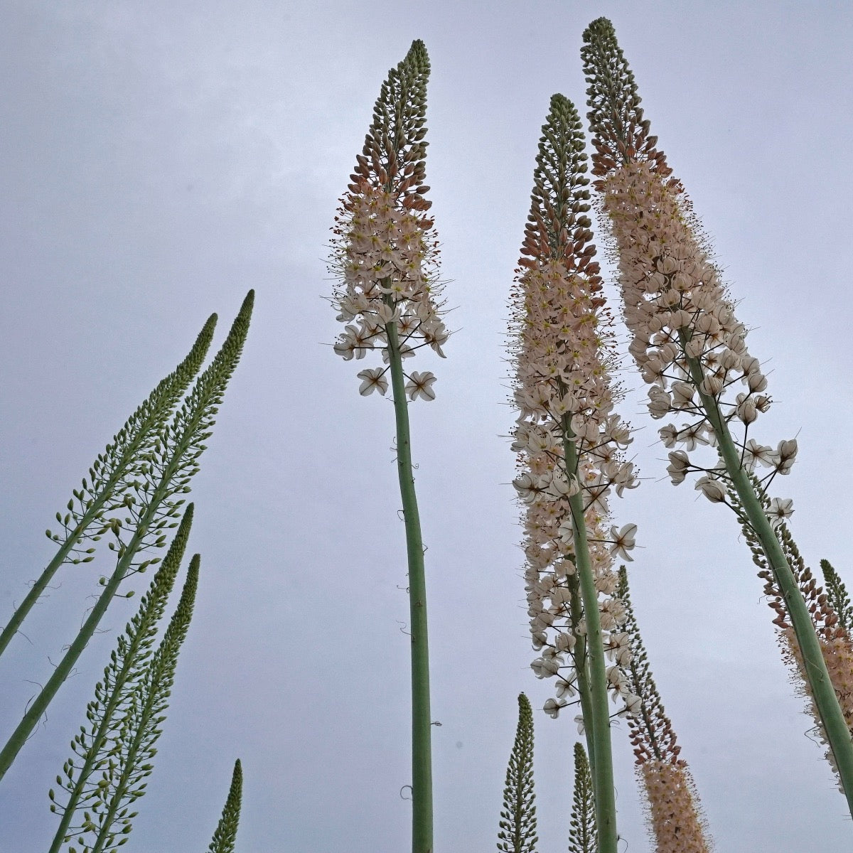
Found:
[{"label": "green stem of the middle tall blooming spike, in front", "polygon": [[[567,422],[563,424],[563,450],[566,456],[566,473],[577,476],[577,450],[574,436]],[[575,566],[586,618],[587,657],[589,659],[590,718],[584,717],[584,727],[592,728],[595,770],[592,771],[595,788],[595,821],[598,827],[598,853],[616,853],[616,794],[613,790],[613,756],[610,741],[610,706],[607,704],[607,674],[604,659],[604,641],[601,637],[601,617],[598,610],[598,591],[592,562],[586,522],[583,518],[581,492],[569,498],[572,508],[572,534],[575,544]]]}]

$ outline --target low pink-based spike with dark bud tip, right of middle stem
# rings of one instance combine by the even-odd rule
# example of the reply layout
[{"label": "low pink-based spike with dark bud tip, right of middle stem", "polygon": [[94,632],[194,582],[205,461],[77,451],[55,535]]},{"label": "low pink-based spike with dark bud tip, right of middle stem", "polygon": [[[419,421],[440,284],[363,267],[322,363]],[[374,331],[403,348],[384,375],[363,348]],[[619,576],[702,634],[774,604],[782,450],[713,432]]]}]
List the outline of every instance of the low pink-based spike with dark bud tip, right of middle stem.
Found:
[{"label": "low pink-based spike with dark bud tip, right of middle stem", "polygon": [[648,827],[658,853],[708,853],[711,839],[699,806],[699,793],[681,746],[666,716],[657,685],[649,669],[646,648],[637,627],[628,589],[628,572],[619,570],[618,595],[625,606],[625,632],[629,636],[628,667],[637,710],[629,717],[637,775],[646,792]]}]

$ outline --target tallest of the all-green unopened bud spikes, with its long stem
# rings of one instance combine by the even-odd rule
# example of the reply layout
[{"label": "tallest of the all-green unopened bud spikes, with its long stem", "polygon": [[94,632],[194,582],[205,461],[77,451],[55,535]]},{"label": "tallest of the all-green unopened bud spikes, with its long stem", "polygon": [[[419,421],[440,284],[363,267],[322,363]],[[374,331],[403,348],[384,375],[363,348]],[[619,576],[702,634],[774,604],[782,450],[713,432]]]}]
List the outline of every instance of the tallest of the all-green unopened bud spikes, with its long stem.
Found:
[{"label": "tallest of the all-green unopened bud spikes, with its long stem", "polygon": [[141,558],[146,551],[163,547],[165,530],[177,526],[177,521],[172,519],[180,514],[184,502],[177,496],[189,491],[189,482],[199,470],[198,459],[206,450],[204,442],[212,434],[218,406],[240,361],[253,303],[254,291],[250,290],[212,363],[195,381],[192,391],[171,417],[171,422],[165,422],[160,432],[151,438],[150,446],[136,461],[132,473],[125,470],[124,496],[113,508],[113,512],[120,508],[125,514],[124,519],[119,516],[102,518],[98,522],[101,526],[95,528],[99,536],[107,531],[112,533],[114,541],[109,543],[109,548],[116,552],[116,566],[110,577],[102,577],[102,594],[83,627],[0,750],[0,778],[15,760],[83,653],[107,606],[118,594],[120,584],[157,561],[156,558]]}]

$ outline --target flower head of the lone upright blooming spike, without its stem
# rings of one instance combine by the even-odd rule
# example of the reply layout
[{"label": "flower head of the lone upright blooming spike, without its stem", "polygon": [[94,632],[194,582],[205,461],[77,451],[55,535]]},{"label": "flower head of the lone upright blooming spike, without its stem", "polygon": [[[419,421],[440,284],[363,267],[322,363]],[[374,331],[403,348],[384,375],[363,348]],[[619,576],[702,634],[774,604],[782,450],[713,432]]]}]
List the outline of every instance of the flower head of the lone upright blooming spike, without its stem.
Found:
[{"label": "flower head of the lone upright blooming spike, without its stem", "polygon": [[[407,357],[422,346],[444,357],[450,333],[437,301],[438,241],[426,213],[432,202],[424,197],[428,76],[427,49],[415,41],[382,84],[335,217],[329,269],[341,283],[332,301],[346,327],[334,351],[346,361],[378,348],[390,364],[393,351]],[[361,371],[359,392],[385,394],[388,369]],[[432,373],[415,371],[408,379],[411,399],[434,399]]]}]

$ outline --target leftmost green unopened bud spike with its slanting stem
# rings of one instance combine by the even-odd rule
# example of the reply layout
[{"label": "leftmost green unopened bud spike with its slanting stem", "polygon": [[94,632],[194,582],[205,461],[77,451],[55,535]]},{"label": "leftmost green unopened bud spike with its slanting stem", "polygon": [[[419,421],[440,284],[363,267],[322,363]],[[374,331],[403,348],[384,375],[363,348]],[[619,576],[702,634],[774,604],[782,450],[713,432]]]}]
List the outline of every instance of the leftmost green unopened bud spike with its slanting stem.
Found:
[{"label": "leftmost green unopened bud spike with its slanting stem", "polygon": [[60,548],[0,632],[0,654],[9,646],[26,615],[60,567],[66,563],[88,563],[95,559],[96,548],[84,549],[84,544],[97,542],[104,531],[105,520],[124,508],[125,496],[132,493],[131,484],[140,475],[166,421],[205,360],[216,322],[217,316],[212,314],[189,355],[128,418],[125,426],[113,436],[113,444],[107,444],[106,450],[98,455],[89,469],[90,479],[84,478],[82,488],[73,490],[65,516],[56,514],[63,532],[46,531],[46,534],[51,542],[59,543]]}]

